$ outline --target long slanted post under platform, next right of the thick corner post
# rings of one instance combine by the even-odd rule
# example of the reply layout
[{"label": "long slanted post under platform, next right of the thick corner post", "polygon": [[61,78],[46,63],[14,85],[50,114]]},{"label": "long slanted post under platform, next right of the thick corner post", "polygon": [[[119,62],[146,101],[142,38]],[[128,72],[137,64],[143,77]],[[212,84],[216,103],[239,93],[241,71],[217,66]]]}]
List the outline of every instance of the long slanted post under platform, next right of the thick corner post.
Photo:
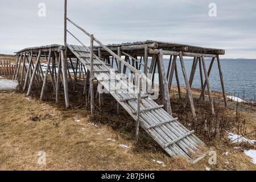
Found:
[{"label": "long slanted post under platform, next right of the thick corner post", "polygon": [[196,118],[196,110],[195,110],[195,106],[194,106],[194,102],[193,102],[191,88],[190,88],[190,85],[189,85],[189,82],[188,82],[187,72],[186,72],[186,69],[185,69],[184,61],[183,61],[183,54],[182,54],[181,51],[180,51],[179,57],[180,57],[181,69],[182,69],[185,84],[186,84],[186,87],[187,87],[188,99],[189,99],[189,102],[190,102],[191,112],[192,112],[193,117]]}]

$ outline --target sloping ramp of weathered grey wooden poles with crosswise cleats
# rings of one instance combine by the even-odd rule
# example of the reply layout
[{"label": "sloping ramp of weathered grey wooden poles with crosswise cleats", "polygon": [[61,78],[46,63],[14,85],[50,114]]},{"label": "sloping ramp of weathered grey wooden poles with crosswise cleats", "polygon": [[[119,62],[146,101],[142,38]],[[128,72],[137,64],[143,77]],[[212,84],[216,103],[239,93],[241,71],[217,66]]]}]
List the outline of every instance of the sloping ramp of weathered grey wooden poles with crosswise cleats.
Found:
[{"label": "sloping ramp of weathered grey wooden poles with crosswise cleats", "polygon": [[[90,48],[84,46],[68,45],[68,48],[90,71]],[[135,85],[116,79],[115,73],[110,74],[109,65],[94,55],[94,77],[106,90],[119,102],[119,104],[133,117],[137,119],[137,94],[129,90],[138,89]],[[122,89],[116,89],[116,85],[122,84]],[[142,93],[141,99],[141,126],[146,132],[172,157],[183,156],[189,161],[200,158],[194,156],[204,143],[196,137],[194,131],[189,131],[177,120],[171,117],[155,101]],[[199,152],[200,153],[200,152]]]}]

